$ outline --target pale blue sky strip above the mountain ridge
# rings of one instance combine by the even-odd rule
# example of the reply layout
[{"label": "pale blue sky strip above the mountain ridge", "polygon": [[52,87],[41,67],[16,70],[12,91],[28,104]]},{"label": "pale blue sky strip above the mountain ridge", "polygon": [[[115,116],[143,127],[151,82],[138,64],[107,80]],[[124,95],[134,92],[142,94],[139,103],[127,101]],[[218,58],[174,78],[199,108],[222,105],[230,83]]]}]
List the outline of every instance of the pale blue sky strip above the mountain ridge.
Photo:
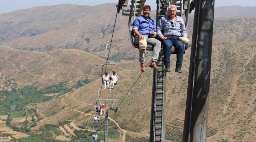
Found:
[{"label": "pale blue sky strip above the mountain ridge", "polygon": [[[92,6],[107,2],[117,3],[118,0],[0,0],[0,13],[41,5],[78,4]],[[147,0],[146,4],[154,5],[155,0]],[[256,0],[215,0],[215,7],[230,5],[256,6]],[[152,9],[154,8],[152,7]]]}]

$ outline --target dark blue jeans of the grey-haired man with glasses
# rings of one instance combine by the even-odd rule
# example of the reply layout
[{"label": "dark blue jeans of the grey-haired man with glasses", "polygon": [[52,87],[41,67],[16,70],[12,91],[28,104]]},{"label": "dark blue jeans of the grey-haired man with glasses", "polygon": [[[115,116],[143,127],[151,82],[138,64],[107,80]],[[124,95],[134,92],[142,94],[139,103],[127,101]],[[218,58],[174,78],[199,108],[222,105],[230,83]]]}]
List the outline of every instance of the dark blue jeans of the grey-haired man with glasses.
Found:
[{"label": "dark blue jeans of the grey-haired man with glasses", "polygon": [[173,35],[163,41],[164,47],[164,64],[170,66],[171,47],[174,45],[177,52],[176,67],[182,66],[183,54],[184,54],[184,43],[178,40],[178,36]]}]

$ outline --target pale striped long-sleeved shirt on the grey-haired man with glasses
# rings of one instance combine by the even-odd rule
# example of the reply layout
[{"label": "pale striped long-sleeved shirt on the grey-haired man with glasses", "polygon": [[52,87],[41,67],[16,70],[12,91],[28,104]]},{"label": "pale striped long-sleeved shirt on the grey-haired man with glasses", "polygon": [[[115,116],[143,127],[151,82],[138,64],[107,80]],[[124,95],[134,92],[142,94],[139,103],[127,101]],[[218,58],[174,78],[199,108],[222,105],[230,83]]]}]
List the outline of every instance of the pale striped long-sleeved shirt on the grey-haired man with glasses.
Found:
[{"label": "pale striped long-sleeved shirt on the grey-haired man with glasses", "polygon": [[[164,30],[162,34],[161,31]],[[187,31],[183,19],[180,16],[176,16],[174,22],[171,21],[169,15],[163,16],[158,23],[158,36],[169,37],[171,35],[177,35],[179,37],[187,37]]]}]

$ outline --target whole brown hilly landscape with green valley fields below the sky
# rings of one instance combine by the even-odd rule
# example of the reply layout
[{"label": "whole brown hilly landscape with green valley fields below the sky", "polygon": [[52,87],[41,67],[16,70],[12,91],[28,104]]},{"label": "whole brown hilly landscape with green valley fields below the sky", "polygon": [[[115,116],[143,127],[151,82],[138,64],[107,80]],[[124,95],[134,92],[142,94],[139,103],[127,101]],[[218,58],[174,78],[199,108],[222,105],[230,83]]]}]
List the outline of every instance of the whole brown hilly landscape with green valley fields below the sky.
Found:
[{"label": "whole brown hilly landscape with green valley fields below the sky", "polygon": [[[103,140],[104,117],[99,124],[92,118],[114,9],[114,4],[58,5],[0,15],[0,141],[92,141],[96,132]],[[189,35],[192,25],[190,20]],[[255,18],[214,20],[207,141],[256,140],[255,25]],[[101,99],[118,99],[117,113],[109,111],[113,142],[148,141],[153,69],[146,68],[127,94],[141,73],[136,58],[127,17],[118,15],[110,59],[118,61],[113,63],[120,78],[113,90],[100,93]],[[167,142],[182,141],[189,60],[190,48],[180,74],[171,57]],[[107,66],[112,70],[117,67]]]}]

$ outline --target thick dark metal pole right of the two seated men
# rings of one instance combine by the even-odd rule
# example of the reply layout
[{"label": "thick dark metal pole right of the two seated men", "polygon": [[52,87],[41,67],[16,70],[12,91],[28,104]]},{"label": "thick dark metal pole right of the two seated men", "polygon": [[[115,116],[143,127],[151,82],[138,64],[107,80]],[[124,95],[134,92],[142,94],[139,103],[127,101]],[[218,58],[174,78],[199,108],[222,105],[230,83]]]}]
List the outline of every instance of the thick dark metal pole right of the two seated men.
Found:
[{"label": "thick dark metal pole right of the two seated men", "polygon": [[196,0],[183,142],[206,142],[214,0]]}]

